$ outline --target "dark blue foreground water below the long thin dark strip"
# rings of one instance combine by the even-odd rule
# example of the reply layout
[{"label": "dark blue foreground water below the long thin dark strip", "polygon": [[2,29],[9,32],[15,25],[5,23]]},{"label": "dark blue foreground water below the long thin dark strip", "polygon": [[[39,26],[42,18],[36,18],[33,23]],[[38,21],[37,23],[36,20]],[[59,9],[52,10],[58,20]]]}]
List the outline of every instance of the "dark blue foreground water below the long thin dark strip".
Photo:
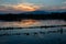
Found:
[{"label": "dark blue foreground water below the long thin dark strip", "polygon": [[66,44],[66,28],[0,30],[0,44]]}]

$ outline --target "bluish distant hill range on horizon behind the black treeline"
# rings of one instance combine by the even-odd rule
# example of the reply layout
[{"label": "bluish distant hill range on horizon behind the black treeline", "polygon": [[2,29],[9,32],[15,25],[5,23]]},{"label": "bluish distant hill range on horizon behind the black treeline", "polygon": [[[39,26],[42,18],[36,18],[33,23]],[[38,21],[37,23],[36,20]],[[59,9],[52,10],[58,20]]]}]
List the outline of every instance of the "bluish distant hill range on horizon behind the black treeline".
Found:
[{"label": "bluish distant hill range on horizon behind the black treeline", "polygon": [[1,13],[0,14],[51,14],[51,13],[64,13],[66,11],[42,11],[42,10],[36,10],[36,11],[31,11],[31,12],[20,12],[20,13]]}]

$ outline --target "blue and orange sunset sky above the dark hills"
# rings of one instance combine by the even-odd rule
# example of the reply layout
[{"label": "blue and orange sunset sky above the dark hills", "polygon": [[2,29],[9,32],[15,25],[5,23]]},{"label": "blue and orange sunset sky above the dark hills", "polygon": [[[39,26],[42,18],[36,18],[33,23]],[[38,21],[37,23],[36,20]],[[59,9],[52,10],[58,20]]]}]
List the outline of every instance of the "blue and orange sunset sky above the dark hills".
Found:
[{"label": "blue and orange sunset sky above the dark hills", "polygon": [[66,0],[0,0],[0,13],[66,10]]}]

